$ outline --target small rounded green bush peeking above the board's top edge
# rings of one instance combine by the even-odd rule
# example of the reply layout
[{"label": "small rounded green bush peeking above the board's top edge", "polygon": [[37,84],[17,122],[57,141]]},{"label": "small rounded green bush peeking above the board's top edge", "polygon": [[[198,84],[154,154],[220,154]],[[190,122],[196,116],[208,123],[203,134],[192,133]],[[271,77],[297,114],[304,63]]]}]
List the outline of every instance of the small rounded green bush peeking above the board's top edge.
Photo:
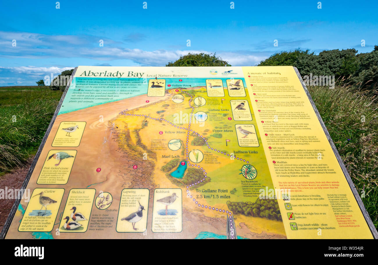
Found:
[{"label": "small rounded green bush peeking above the board's top edge", "polygon": [[216,57],[214,54],[206,53],[188,53],[187,55],[180,56],[180,59],[175,62],[169,62],[166,66],[231,66],[227,61]]}]

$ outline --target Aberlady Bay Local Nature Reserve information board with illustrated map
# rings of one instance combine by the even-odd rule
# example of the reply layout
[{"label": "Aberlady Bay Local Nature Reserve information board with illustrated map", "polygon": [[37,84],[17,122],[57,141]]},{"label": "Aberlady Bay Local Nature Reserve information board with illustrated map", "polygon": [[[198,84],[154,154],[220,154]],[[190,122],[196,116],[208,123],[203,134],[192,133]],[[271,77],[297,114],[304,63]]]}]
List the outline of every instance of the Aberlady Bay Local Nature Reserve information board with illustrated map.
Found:
[{"label": "Aberlady Bay Local Nature Reserve information board with illustrated map", "polygon": [[6,238],[372,238],[293,67],[79,66]]}]

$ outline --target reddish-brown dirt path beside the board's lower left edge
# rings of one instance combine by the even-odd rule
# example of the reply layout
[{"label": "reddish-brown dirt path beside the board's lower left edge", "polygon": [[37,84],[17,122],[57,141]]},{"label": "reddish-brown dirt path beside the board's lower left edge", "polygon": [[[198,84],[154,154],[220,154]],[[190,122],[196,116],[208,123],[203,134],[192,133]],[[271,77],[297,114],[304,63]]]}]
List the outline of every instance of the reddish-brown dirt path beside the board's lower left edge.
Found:
[{"label": "reddish-brown dirt path beside the board's lower left edge", "polygon": [[[12,169],[10,173],[6,173],[3,176],[0,176],[0,189],[19,189],[22,186],[28,174],[31,162],[33,161],[34,156],[29,158],[28,161],[22,168]],[[15,199],[2,199],[0,200],[0,231],[3,230],[6,219],[8,218],[9,212],[13,206]]]}]

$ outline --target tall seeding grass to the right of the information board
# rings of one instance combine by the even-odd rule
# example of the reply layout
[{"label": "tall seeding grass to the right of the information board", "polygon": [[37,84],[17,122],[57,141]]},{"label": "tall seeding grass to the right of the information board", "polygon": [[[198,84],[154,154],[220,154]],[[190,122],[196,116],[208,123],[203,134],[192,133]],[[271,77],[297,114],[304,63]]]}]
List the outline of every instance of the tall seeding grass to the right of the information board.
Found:
[{"label": "tall seeding grass to the right of the information board", "polygon": [[309,87],[309,91],[378,227],[378,103],[366,92],[347,88]]}]

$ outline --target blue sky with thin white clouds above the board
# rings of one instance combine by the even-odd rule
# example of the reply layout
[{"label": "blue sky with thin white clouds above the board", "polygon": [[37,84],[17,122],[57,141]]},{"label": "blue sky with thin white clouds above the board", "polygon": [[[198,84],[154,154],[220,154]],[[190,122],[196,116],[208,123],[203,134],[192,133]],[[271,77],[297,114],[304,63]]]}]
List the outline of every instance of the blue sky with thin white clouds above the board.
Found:
[{"label": "blue sky with thin white clouds above the board", "polygon": [[0,86],[35,85],[78,65],[165,66],[188,52],[251,66],[283,50],[378,45],[376,0],[56,2],[0,3]]}]

